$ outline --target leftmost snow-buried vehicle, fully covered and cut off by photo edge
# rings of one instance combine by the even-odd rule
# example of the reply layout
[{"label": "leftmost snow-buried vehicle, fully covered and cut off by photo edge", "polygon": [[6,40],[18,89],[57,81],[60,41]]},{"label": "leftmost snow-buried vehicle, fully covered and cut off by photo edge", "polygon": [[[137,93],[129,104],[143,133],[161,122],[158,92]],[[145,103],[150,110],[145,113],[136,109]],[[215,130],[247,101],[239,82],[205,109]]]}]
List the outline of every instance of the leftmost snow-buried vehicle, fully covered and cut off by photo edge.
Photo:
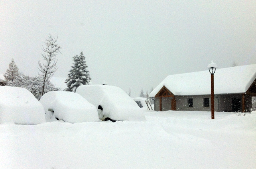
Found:
[{"label": "leftmost snow-buried vehicle, fully covered and cut off by photo edge", "polygon": [[45,122],[43,106],[30,91],[0,86],[0,123],[39,124]]}]

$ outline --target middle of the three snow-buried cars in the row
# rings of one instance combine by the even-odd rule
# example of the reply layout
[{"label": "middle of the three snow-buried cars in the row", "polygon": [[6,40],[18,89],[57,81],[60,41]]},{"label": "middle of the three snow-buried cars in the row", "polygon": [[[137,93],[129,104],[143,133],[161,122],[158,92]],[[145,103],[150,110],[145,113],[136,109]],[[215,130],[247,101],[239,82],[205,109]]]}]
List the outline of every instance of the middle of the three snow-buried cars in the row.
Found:
[{"label": "middle of the three snow-buried cars in the row", "polygon": [[49,91],[40,102],[46,114],[52,113],[50,118],[70,123],[99,121],[96,107],[77,93]]}]

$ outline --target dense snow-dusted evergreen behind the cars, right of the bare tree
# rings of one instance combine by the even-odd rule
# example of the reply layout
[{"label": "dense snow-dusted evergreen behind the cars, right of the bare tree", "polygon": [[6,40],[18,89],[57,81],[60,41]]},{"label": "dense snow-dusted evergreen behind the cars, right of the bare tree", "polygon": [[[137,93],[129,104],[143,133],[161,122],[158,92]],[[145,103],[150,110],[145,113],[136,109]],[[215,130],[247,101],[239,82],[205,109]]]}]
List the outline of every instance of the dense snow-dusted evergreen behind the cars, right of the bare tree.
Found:
[{"label": "dense snow-dusted evergreen behind the cars, right of the bare tree", "polygon": [[67,91],[75,92],[79,85],[87,85],[91,81],[90,72],[87,70],[85,56],[83,52],[79,56],[73,56],[73,66],[69,70],[68,78],[65,81]]}]

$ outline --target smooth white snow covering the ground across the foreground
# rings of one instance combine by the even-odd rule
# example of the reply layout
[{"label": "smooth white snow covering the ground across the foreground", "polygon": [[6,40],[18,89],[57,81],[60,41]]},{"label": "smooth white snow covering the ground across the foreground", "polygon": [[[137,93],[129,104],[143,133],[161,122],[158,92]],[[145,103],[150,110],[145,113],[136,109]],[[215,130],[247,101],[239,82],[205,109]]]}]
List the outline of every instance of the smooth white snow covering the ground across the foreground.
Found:
[{"label": "smooth white snow covering the ground across the foreground", "polygon": [[256,168],[255,112],[144,113],[146,122],[0,124],[0,168]]}]

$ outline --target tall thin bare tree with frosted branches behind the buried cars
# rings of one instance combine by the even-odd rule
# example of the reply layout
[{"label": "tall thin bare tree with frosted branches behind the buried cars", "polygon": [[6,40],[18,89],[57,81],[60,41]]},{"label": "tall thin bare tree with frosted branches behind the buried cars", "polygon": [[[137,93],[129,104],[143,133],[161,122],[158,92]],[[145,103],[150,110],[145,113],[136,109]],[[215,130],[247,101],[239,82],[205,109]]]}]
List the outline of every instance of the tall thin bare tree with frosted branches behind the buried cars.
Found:
[{"label": "tall thin bare tree with frosted branches behind the buried cars", "polygon": [[57,39],[55,39],[51,35],[48,36],[48,39],[45,39],[46,47],[43,47],[43,52],[45,53],[42,53],[43,60],[45,60],[45,63],[41,64],[41,62],[38,61],[38,69],[40,71],[38,72],[38,74],[43,82],[41,96],[44,94],[45,83],[48,82],[49,79],[51,79],[53,74],[58,69],[56,66],[56,56],[60,52],[59,50],[61,49],[61,47],[58,45]]}]

